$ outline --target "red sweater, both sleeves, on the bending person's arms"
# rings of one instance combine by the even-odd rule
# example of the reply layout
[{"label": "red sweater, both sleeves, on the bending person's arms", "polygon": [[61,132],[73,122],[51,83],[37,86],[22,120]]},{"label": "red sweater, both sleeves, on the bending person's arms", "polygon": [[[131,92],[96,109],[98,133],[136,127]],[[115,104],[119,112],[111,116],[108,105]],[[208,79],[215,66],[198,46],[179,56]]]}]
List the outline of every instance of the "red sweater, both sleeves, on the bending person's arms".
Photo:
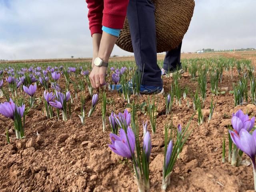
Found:
[{"label": "red sweater, both sleeves, on the bending person's arms", "polygon": [[122,29],[129,0],[86,0],[91,35],[102,33],[102,26]]}]

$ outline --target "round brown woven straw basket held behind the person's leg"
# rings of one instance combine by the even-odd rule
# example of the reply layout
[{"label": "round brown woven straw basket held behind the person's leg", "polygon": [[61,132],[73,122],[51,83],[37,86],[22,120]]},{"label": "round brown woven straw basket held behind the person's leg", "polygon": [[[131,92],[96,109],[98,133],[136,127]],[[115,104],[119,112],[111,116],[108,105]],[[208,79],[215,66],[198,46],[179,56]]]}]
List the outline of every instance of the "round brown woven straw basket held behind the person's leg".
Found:
[{"label": "round brown woven straw basket held behind the person's leg", "polygon": [[[194,0],[154,0],[154,4],[157,52],[172,50],[180,44],[188,30],[195,2]],[[116,45],[123,50],[133,52],[127,18]]]}]

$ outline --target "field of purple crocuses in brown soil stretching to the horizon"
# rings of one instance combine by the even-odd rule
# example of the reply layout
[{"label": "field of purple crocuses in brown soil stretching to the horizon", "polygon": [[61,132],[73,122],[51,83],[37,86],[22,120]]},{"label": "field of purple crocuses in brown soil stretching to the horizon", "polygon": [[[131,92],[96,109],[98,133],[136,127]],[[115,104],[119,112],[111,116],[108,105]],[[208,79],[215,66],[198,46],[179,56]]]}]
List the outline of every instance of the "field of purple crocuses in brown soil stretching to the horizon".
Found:
[{"label": "field of purple crocuses in brown soil stretching to the horizon", "polygon": [[[158,55],[160,66],[163,58]],[[122,127],[117,123],[113,128],[109,116],[112,112],[124,113],[125,109],[131,115],[127,126],[135,130],[140,146],[143,122],[148,121],[152,143],[149,191],[161,191],[165,128],[172,130],[174,146],[179,138],[184,141],[179,155],[176,150],[179,157],[176,160],[174,156],[176,162],[166,191],[253,191],[250,158],[243,153],[238,154],[242,162],[233,166],[228,162],[228,129],[233,130],[232,113],[239,109],[250,118],[256,115],[255,64],[256,51],[182,54],[185,72],[163,76],[165,94],[148,97],[136,94],[136,85],[132,87],[135,94],[108,88],[114,86],[112,74],[119,77],[116,83],[123,90],[129,90],[125,82],[139,79],[133,57],[111,58],[110,67],[115,69],[109,67],[108,85],[100,91],[90,87],[90,59],[2,62],[1,105],[10,97],[16,106],[25,104],[25,109],[20,118],[18,114],[13,118],[0,115],[0,191],[136,191],[132,161],[108,146],[110,132],[117,133]],[[24,89],[31,84],[37,85],[32,96]],[[45,101],[45,90],[55,96],[50,101],[55,104]],[[98,102],[94,98],[92,104],[94,94],[98,94]],[[56,107],[58,102],[61,108]],[[0,107],[0,113],[5,112]],[[177,132],[178,124],[184,135]],[[24,132],[21,139],[17,138],[18,127],[20,137]],[[138,158],[136,150],[134,158]]]}]

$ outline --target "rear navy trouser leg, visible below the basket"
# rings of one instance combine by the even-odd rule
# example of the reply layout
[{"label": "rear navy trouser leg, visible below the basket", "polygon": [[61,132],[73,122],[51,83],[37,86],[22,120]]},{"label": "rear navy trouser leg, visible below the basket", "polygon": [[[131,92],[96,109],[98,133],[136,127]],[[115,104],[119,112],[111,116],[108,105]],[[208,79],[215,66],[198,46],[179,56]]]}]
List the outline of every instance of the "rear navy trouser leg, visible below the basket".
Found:
[{"label": "rear navy trouser leg, visible below the basket", "polygon": [[164,58],[164,67],[163,67],[164,70],[174,71],[177,68],[181,68],[181,62],[180,62],[181,45],[182,45],[182,42],[178,45],[176,49],[166,52],[166,55]]}]

